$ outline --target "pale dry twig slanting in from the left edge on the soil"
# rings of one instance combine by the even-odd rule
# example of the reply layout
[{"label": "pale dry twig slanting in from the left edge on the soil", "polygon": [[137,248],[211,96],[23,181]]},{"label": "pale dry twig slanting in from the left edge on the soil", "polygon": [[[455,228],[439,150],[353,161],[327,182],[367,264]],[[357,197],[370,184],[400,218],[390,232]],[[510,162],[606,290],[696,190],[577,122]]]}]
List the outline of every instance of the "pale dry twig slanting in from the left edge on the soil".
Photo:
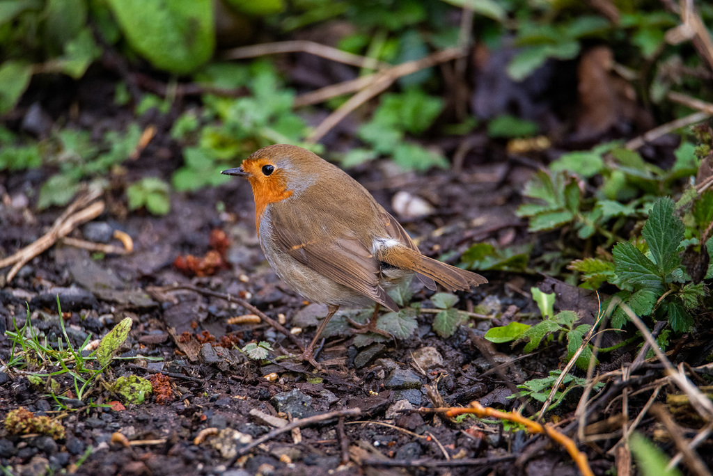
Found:
[{"label": "pale dry twig slanting in from the left edge on the soil", "polygon": [[[11,264],[14,266],[10,269],[5,277],[5,284],[9,283],[17,274],[17,271],[24,267],[34,257],[39,256],[57,242],[58,239],[66,237],[78,225],[95,219],[104,212],[104,202],[93,202],[101,192],[91,192],[88,195],[83,195],[75,200],[67,209],[55,220],[51,229],[43,234],[32,244],[20,249],[10,257],[0,260],[0,269]],[[86,207],[86,208],[83,208]],[[83,209],[80,209],[83,208]],[[78,212],[74,212],[80,209]]]}]

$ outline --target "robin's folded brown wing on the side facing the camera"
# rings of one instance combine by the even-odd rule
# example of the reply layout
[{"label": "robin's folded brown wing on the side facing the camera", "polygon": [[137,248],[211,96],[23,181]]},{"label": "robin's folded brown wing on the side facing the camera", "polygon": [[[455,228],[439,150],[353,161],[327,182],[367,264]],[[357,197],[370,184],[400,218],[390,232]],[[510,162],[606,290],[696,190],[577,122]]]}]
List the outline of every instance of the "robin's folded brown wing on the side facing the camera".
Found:
[{"label": "robin's folded brown wing on the side facing the camera", "polygon": [[302,220],[284,219],[277,208],[273,209],[277,213],[272,217],[277,246],[319,274],[364,294],[391,311],[399,310],[379,286],[379,261],[356,234],[339,224],[328,230],[320,223],[312,222],[310,226]]}]

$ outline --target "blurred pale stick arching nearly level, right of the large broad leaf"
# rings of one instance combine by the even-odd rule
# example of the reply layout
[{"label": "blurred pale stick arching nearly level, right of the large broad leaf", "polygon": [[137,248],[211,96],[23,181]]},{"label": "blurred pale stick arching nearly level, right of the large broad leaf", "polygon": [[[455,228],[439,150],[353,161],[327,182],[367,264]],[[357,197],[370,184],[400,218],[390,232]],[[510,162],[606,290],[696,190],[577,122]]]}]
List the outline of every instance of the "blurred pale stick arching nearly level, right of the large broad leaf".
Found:
[{"label": "blurred pale stick arching nearly level, right of the large broad leaf", "polygon": [[338,63],[345,63],[366,69],[385,69],[391,67],[389,63],[384,63],[374,58],[347,53],[347,51],[342,51],[332,46],[307,40],[277,41],[275,43],[240,46],[239,48],[232,48],[226,51],[222,56],[225,59],[245,59],[277,53],[310,53],[314,56],[321,56],[322,58],[337,61]]}]

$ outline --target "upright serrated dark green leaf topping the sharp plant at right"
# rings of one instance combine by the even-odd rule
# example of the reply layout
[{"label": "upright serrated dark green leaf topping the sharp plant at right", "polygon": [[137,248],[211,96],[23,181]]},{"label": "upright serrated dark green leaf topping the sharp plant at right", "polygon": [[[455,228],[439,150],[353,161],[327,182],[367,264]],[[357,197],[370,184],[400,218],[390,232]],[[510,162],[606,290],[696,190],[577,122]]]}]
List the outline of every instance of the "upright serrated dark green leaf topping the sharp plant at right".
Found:
[{"label": "upright serrated dark green leaf topping the sharp plant at right", "polygon": [[681,264],[677,249],[686,227],[674,216],[674,206],[674,201],[668,197],[657,200],[641,231],[662,274],[669,274]]}]

